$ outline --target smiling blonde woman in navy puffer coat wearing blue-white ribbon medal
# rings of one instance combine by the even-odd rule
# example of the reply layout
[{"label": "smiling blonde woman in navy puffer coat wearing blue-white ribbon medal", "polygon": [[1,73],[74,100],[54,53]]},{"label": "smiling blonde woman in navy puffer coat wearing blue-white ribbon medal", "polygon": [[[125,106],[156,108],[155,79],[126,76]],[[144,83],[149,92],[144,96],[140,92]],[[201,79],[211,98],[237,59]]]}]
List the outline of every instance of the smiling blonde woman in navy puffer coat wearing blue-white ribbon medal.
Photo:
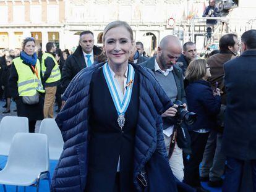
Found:
[{"label": "smiling blonde woman in navy puffer coat wearing blue-white ribbon medal", "polygon": [[128,62],[126,22],[109,23],[103,41],[108,62],[82,70],[64,93],[56,122],[65,144],[51,190],[176,191],[161,127],[173,103],[147,69]]}]

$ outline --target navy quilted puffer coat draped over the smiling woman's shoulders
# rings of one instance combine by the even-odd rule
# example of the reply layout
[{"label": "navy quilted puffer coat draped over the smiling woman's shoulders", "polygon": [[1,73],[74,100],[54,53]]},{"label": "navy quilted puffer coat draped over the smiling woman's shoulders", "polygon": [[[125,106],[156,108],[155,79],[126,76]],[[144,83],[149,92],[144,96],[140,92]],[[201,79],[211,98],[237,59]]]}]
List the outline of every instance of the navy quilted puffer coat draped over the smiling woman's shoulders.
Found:
[{"label": "navy quilted puffer coat draped over the smiling woman's shoulders", "polygon": [[[71,81],[64,93],[66,104],[56,117],[64,140],[64,151],[53,175],[51,191],[85,190],[88,173],[88,130],[90,130],[90,125],[88,125],[90,81],[93,72],[103,64],[83,69]],[[165,190],[161,191],[176,191],[171,169],[165,159],[166,150],[160,116],[173,104],[147,69],[140,65],[132,65],[140,76],[139,116],[134,149],[134,186],[137,191],[142,191],[137,177],[143,170],[148,170],[150,173],[147,175],[148,180],[152,182],[149,186],[155,186],[153,190],[164,188]],[[151,159],[155,156],[157,157]],[[164,169],[159,169],[163,170],[163,173],[152,172],[152,166],[159,165],[160,162],[166,166]],[[162,176],[164,174],[166,177]],[[158,186],[158,183],[153,183],[159,182],[159,180],[163,182],[161,186]]]}]

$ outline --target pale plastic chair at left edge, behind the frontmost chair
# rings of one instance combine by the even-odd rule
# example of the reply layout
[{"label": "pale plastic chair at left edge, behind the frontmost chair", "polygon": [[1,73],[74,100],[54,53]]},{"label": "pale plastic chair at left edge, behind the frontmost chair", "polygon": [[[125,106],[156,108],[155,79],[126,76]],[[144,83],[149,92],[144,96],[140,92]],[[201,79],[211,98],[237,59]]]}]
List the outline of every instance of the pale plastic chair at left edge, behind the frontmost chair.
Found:
[{"label": "pale plastic chair at left edge, behind the frontmost chair", "polygon": [[27,117],[3,117],[0,123],[0,156],[8,156],[15,133],[28,133]]}]

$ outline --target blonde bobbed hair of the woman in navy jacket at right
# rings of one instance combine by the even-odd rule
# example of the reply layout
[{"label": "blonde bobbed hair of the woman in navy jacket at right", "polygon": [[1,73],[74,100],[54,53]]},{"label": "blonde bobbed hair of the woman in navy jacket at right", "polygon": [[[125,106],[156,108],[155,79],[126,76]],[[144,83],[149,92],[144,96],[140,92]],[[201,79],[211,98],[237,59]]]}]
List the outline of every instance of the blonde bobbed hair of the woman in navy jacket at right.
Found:
[{"label": "blonde bobbed hair of the woman in navy jacket at right", "polygon": [[207,73],[207,61],[205,59],[194,59],[190,62],[185,72],[188,81],[197,81],[205,77]]}]

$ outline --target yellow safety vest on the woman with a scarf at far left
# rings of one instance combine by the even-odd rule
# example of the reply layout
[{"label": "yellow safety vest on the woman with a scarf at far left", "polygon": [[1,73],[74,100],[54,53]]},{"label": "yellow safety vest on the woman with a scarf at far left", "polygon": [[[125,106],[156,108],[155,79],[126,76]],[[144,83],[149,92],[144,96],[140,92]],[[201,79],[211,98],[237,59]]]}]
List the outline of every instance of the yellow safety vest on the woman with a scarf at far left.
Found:
[{"label": "yellow safety vest on the woman with a scarf at far left", "polygon": [[38,59],[35,65],[35,69],[38,72],[38,77],[36,76],[36,73],[32,72],[28,65],[23,64],[20,57],[15,58],[13,62],[19,76],[17,81],[19,96],[33,96],[36,94],[36,91],[45,93],[41,83],[40,62]]}]

